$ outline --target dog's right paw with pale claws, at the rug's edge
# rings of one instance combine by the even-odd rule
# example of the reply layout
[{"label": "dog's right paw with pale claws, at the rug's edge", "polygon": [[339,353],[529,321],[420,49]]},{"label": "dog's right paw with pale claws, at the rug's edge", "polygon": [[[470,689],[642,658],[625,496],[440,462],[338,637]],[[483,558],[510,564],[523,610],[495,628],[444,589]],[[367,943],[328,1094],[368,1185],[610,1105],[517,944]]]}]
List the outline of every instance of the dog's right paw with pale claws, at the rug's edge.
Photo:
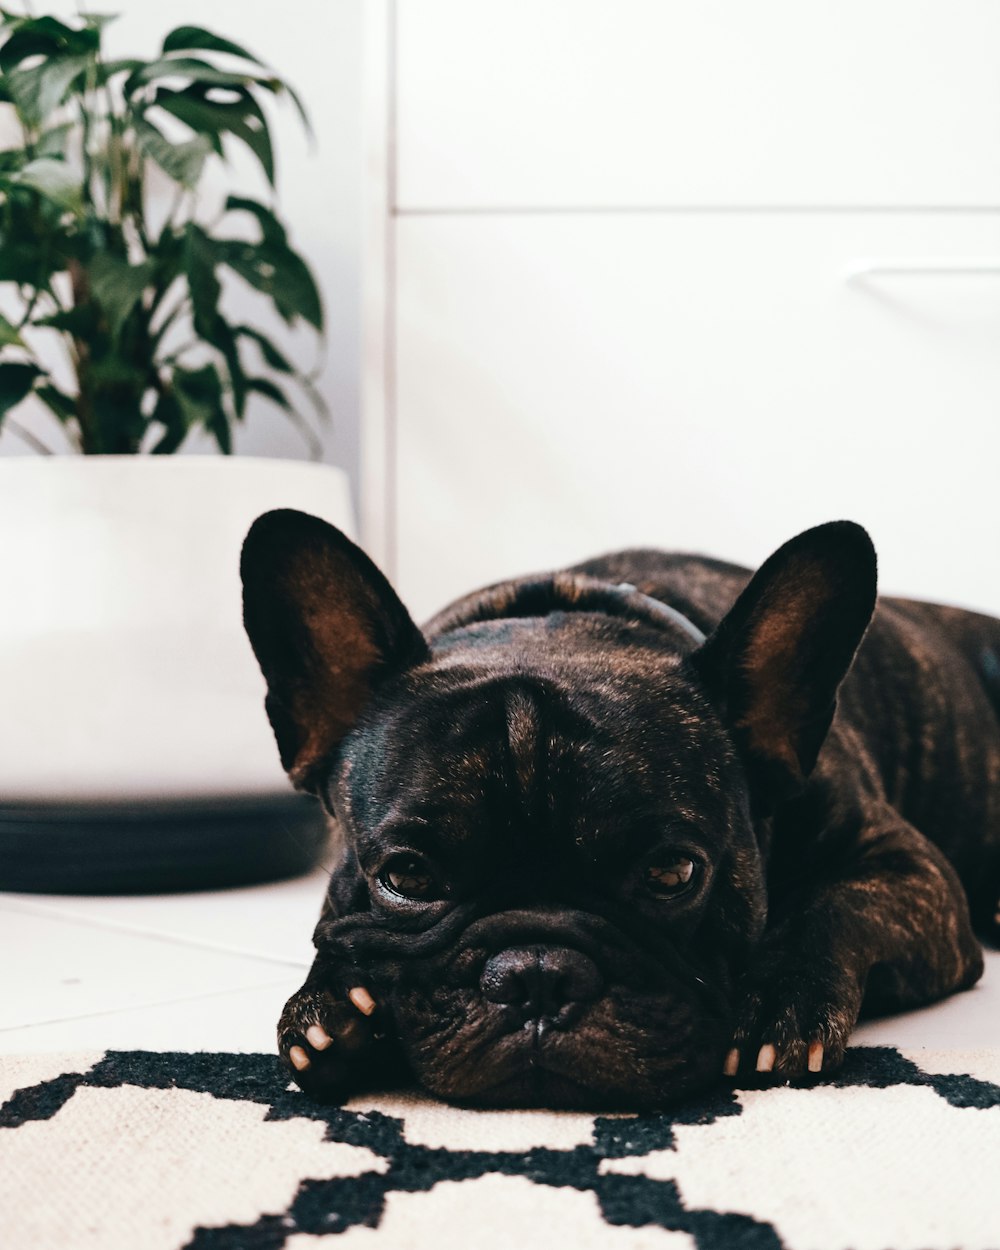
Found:
[{"label": "dog's right paw with pale claws, at the rug's edge", "polygon": [[724,1075],[788,1081],[835,1071],[860,1010],[860,988],[841,970],[769,960],[742,985]]}]

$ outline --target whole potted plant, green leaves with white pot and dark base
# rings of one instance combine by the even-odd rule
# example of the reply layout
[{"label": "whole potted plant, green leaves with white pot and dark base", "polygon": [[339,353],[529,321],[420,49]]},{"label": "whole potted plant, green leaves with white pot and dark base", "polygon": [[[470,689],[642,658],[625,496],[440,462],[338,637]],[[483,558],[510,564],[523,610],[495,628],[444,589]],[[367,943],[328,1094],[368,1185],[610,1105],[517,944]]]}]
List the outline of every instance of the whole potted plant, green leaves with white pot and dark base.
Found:
[{"label": "whole potted plant, green leaves with white pot and dark base", "polygon": [[[305,111],[256,56],[200,26],[171,30],[148,60],[108,59],[110,20],[0,10],[0,110],[20,131],[0,151],[0,426],[51,450],[38,411],[19,411],[41,406],[84,452],[0,459],[8,889],[248,880],[308,866],[321,842],[312,809],[288,805],[299,796],[242,638],[238,555],[272,506],[350,529],[344,475],[168,456],[195,431],[230,452],[251,396],[318,454],[314,378],[274,338],[322,331],[316,282],[270,198],[268,100],[308,125]],[[202,192],[234,148],[265,194],[212,210]],[[239,284],[255,292],[252,322],[229,311]],[[284,848],[274,811],[292,834]],[[136,832],[151,822],[155,852]],[[81,829],[90,854],[52,854]]]}]

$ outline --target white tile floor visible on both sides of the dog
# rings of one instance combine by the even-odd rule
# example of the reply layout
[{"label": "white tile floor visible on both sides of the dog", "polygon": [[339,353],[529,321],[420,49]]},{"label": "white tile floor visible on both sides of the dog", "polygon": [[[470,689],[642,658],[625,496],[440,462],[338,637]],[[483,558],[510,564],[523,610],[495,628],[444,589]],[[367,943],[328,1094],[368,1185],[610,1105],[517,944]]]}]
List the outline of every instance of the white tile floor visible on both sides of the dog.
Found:
[{"label": "white tile floor visible on both sides of the dog", "polygon": [[[325,871],[276,885],[152,898],[0,894],[0,1054],[270,1051],[311,959]],[[1000,1044],[1000,951],[969,994],[855,1041],[908,1049]]]}]

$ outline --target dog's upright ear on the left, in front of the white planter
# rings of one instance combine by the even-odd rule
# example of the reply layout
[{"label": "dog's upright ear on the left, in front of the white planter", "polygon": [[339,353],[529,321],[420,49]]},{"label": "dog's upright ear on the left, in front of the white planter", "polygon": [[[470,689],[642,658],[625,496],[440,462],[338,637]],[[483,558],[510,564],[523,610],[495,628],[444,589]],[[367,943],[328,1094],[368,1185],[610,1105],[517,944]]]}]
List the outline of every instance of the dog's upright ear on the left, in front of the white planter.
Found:
[{"label": "dog's upright ear on the left, in front of the white planter", "polygon": [[365,552],[316,516],[265,512],[240,559],[244,625],[281,764],[315,792],[376,686],[428,646]]}]

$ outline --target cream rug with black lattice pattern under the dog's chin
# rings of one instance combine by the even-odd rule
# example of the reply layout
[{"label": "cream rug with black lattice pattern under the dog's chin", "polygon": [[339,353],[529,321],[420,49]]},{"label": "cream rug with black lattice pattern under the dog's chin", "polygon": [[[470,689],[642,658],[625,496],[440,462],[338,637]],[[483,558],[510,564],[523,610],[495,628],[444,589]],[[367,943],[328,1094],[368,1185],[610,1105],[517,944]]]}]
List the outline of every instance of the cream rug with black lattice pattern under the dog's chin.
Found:
[{"label": "cream rug with black lattice pattern under the dog's chin", "polygon": [[270,1055],[0,1059],[4,1250],[998,1250],[1000,1050],[674,1111],[321,1108]]}]

